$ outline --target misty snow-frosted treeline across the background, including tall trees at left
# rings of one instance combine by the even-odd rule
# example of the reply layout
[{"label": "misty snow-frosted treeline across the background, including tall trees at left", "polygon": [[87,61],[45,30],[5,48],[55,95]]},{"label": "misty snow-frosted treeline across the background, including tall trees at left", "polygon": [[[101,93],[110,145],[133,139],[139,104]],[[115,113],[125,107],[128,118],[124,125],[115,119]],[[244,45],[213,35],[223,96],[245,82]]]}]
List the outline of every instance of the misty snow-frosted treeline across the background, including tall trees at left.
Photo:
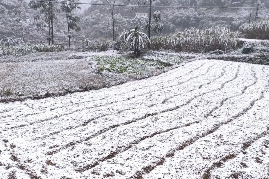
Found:
[{"label": "misty snow-frosted treeline across the background, including tall trees at left", "polygon": [[[256,9],[239,8],[162,8],[122,7],[125,5],[152,6],[221,6],[268,7],[267,0],[93,0],[85,11],[79,10],[79,0],[49,2],[0,1],[0,38],[22,38],[27,43],[80,44],[82,39],[115,40],[125,29],[138,29],[148,37],[175,33],[189,27],[224,26],[238,30],[240,25],[254,21]],[[58,0],[59,1],[59,0]],[[87,1],[89,2],[89,1]],[[151,18],[136,16],[148,13]],[[259,9],[258,19],[268,18],[268,10]]]}]

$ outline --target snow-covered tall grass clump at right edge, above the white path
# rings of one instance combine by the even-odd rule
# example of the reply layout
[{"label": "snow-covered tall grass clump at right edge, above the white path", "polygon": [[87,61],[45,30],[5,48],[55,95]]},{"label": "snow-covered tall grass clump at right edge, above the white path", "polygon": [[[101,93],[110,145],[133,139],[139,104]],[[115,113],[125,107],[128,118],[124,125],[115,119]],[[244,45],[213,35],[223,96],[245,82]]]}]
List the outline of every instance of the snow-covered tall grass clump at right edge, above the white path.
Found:
[{"label": "snow-covered tall grass clump at right edge, above the white path", "polygon": [[245,38],[269,39],[269,20],[242,24],[239,31],[245,34]]}]

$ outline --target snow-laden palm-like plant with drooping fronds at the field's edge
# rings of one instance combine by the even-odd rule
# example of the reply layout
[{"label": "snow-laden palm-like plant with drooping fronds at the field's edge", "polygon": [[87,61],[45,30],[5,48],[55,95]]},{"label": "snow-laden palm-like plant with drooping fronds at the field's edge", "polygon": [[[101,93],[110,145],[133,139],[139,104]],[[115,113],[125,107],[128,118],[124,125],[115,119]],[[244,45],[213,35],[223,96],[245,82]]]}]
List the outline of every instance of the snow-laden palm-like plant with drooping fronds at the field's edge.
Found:
[{"label": "snow-laden palm-like plant with drooping fronds at the field's edge", "polygon": [[151,44],[149,37],[145,33],[139,32],[137,26],[133,30],[124,30],[117,41],[123,41],[124,44],[128,44],[129,48],[134,51],[135,57],[139,57],[141,50],[145,48],[144,41]]}]

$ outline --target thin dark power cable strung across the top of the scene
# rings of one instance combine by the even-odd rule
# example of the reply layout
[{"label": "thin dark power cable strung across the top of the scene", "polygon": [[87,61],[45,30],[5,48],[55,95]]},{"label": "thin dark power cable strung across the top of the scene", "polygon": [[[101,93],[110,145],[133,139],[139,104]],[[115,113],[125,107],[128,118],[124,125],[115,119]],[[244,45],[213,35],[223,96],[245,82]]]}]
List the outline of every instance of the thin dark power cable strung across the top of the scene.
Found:
[{"label": "thin dark power cable strung across the top of the scene", "polygon": [[[11,1],[31,1],[31,0],[11,0]],[[37,1],[33,0],[32,2],[54,2],[54,3],[62,3],[59,1]],[[68,2],[70,4],[87,4],[87,5],[97,5],[97,6],[124,6],[124,7],[172,7],[172,8],[230,8],[230,9],[257,9],[257,7],[220,7],[220,6],[195,6],[195,7],[190,7],[190,6],[142,6],[142,5],[124,5],[124,4],[95,4],[95,3],[83,3],[83,2]],[[269,9],[269,7],[258,7],[259,9]]]}]

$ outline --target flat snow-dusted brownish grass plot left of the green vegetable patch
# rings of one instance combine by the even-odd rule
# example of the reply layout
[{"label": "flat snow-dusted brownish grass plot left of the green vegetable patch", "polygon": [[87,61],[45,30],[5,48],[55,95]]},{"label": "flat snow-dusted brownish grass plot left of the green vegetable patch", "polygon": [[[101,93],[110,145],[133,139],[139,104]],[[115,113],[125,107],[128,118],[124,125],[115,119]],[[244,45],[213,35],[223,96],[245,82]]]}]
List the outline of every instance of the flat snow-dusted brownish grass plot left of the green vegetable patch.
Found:
[{"label": "flat snow-dusted brownish grass plot left of the green vegetable patch", "polygon": [[[88,85],[100,89],[109,85],[90,70],[85,60],[51,60],[1,63],[1,96],[45,95],[47,92],[79,90]],[[10,89],[11,93],[7,94]]]}]

